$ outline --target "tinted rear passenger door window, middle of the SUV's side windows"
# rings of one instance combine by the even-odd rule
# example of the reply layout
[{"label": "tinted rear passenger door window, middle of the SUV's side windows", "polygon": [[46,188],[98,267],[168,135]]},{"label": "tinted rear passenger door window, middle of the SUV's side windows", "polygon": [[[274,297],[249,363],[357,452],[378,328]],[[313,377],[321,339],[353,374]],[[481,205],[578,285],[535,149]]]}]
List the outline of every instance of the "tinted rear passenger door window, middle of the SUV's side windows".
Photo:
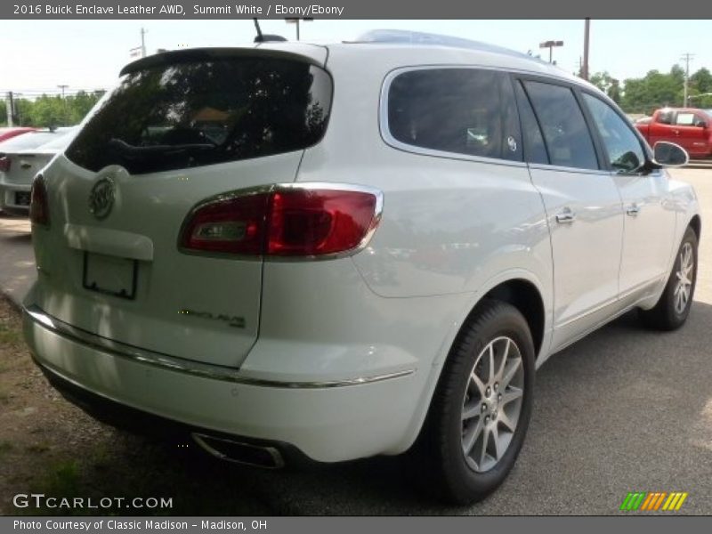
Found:
[{"label": "tinted rear passenger door window, middle of the SUV's side windows", "polygon": [[561,85],[525,82],[552,165],[597,169],[594,142],[578,102]]}]

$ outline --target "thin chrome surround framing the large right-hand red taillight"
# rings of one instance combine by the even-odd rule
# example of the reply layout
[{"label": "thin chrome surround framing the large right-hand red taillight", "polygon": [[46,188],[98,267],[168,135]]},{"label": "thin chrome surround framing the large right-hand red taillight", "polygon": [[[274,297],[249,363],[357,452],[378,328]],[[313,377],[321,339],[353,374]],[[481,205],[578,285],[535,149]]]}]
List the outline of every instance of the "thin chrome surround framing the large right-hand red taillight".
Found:
[{"label": "thin chrome surround framing the large right-hand red taillight", "polygon": [[[332,191],[358,191],[362,193],[370,193],[376,197],[376,206],[374,206],[374,218],[371,222],[371,227],[364,235],[360,243],[349,250],[344,250],[343,252],[337,252],[335,254],[323,254],[323,255],[300,255],[300,256],[279,256],[279,255],[239,255],[230,253],[219,253],[219,252],[201,252],[198,250],[192,250],[190,248],[182,247],[181,239],[183,231],[185,231],[188,223],[193,218],[193,216],[198,212],[199,209],[205,207],[214,202],[223,202],[225,200],[231,200],[232,198],[247,197],[249,195],[257,195],[260,193],[271,193],[275,191],[285,191],[285,190],[332,190]],[[190,211],[183,219],[181,224],[181,230],[178,232],[177,247],[179,252],[187,255],[201,255],[210,256],[223,259],[233,259],[233,260],[245,260],[245,261],[265,261],[274,263],[294,263],[294,262],[319,262],[324,260],[336,260],[340,258],[346,258],[355,254],[358,254],[361,250],[368,246],[373,234],[378,229],[381,223],[381,216],[384,211],[384,192],[382,190],[376,189],[374,187],[368,187],[366,185],[360,185],[355,183],[342,183],[342,182],[286,182],[286,183],[271,183],[267,185],[257,185],[255,187],[248,187],[239,190],[231,190],[224,193],[219,193],[213,197],[201,200],[195,206],[190,208]]]}]

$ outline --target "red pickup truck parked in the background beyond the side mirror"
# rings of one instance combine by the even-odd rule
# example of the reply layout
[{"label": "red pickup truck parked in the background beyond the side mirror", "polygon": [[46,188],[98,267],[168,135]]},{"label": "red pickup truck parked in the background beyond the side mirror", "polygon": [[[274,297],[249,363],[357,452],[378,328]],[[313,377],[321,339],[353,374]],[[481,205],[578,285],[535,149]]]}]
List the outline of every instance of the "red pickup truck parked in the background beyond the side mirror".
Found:
[{"label": "red pickup truck parked in the background beyond the side mirror", "polygon": [[658,109],[635,127],[651,146],[659,141],[674,142],[687,150],[690,158],[712,157],[712,113],[706,109]]}]

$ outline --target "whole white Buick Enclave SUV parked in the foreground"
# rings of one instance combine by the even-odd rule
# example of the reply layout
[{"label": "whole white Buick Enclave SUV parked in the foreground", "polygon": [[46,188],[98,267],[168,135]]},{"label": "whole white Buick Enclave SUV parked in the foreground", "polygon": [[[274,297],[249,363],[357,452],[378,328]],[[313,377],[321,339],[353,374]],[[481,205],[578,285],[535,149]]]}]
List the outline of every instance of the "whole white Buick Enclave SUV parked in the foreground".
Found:
[{"label": "whole white Buick Enclave SUV parked in the foreground", "polygon": [[122,76],[32,193],[27,341],[97,417],[267,467],[412,449],[469,502],[551,354],[690,312],[684,150],[551,65],[376,33]]}]

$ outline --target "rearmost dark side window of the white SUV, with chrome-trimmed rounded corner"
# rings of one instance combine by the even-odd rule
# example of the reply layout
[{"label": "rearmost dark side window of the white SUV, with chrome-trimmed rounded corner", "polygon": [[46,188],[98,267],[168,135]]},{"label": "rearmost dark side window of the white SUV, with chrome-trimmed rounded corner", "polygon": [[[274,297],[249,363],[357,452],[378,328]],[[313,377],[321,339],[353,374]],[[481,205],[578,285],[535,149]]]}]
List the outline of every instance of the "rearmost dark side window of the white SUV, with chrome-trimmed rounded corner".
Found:
[{"label": "rearmost dark side window of the white SUV, with chrome-trimmed rounded corner", "polygon": [[388,126],[397,141],[425,149],[522,159],[511,83],[489,70],[399,75],[388,92]]}]

